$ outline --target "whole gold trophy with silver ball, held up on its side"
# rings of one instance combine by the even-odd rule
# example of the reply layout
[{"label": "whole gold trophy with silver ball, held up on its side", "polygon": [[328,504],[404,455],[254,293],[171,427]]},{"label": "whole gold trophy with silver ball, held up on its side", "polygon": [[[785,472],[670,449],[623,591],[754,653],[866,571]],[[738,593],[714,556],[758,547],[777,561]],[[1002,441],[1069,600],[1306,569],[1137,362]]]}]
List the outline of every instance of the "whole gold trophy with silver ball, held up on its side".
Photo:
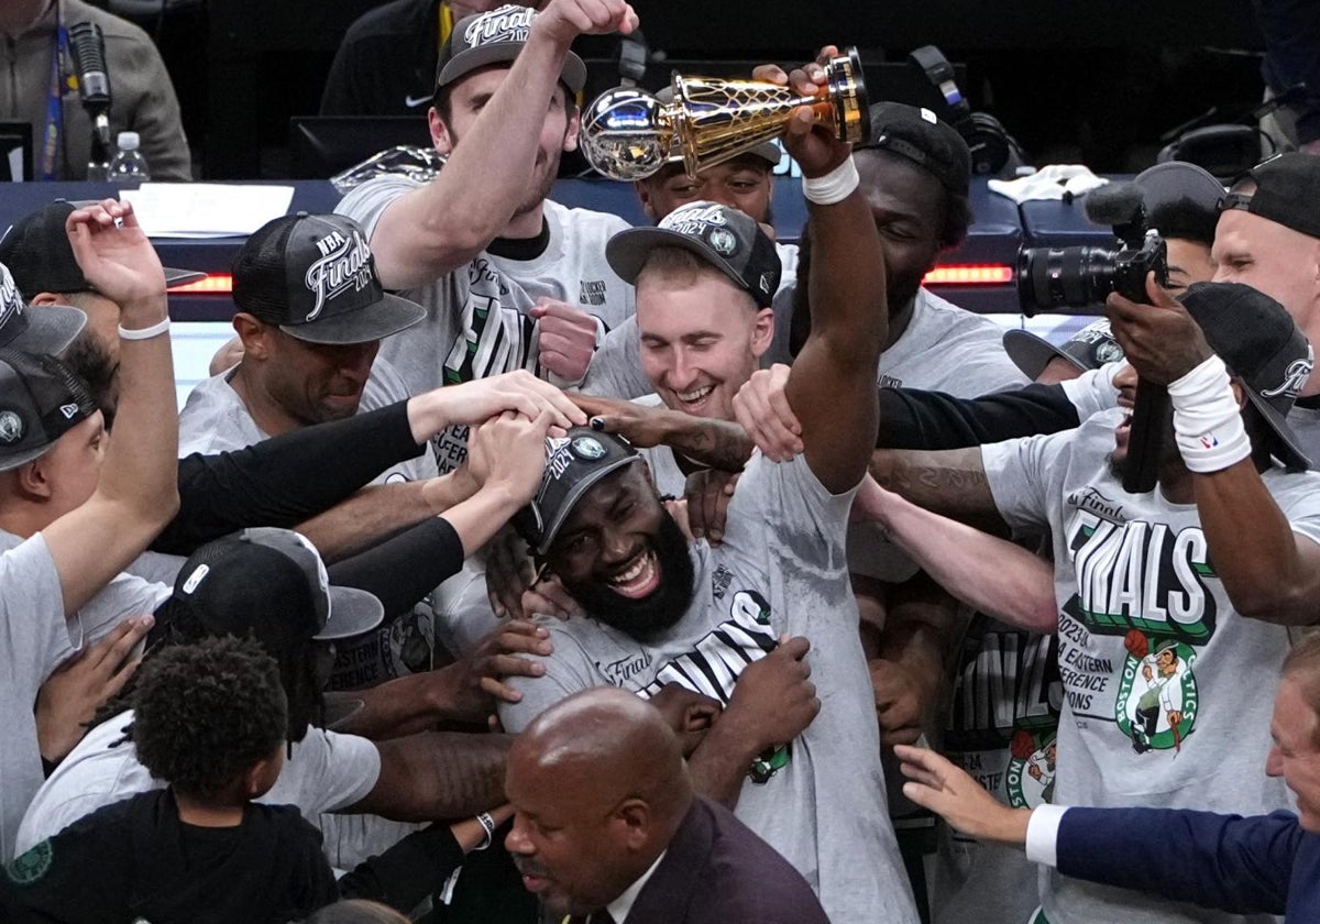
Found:
[{"label": "whole gold trophy with silver ball, held up on its side", "polygon": [[784,133],[793,110],[809,106],[816,123],[832,125],[841,141],[870,136],[866,83],[855,48],[825,65],[818,95],[762,81],[673,75],[673,99],[619,87],[597,98],[582,116],[582,153],[614,180],[644,180],[669,160],[698,170],[737,157]]}]

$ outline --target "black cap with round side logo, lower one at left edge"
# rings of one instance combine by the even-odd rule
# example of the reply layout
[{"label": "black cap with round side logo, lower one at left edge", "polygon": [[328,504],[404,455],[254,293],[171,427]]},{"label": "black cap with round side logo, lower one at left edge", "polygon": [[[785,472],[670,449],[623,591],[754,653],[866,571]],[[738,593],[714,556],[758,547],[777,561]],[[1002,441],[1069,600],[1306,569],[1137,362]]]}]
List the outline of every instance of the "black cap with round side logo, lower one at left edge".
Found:
[{"label": "black cap with round side logo, lower one at left edge", "polygon": [[0,471],[41,458],[94,413],[87,384],[58,359],[0,348]]}]

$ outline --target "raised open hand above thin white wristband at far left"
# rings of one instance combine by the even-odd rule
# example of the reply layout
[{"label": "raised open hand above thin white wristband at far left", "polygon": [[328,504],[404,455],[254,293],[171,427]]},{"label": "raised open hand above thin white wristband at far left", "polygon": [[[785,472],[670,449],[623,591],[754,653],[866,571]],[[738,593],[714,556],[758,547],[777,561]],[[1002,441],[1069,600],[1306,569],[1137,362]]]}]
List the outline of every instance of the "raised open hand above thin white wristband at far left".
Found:
[{"label": "raised open hand above thin white wristband at far left", "polygon": [[165,269],[129,202],[102,199],[69,213],[65,231],[74,259],[96,292],[123,312],[165,308]]}]

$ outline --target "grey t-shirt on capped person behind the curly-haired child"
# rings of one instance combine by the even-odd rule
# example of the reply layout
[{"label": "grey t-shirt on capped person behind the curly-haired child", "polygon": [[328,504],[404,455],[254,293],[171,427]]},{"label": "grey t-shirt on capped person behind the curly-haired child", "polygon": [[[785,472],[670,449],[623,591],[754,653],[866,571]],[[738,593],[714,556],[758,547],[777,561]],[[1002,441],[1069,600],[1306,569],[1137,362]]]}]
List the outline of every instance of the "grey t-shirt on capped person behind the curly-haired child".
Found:
[{"label": "grey t-shirt on capped person behind the curly-haired child", "polygon": [[[132,742],[116,746],[132,721],[133,713],[125,711],[102,722],[55,768],[22,820],[20,853],[104,805],[165,785],[139,763]],[[337,812],[364,799],[379,776],[380,752],[370,741],[309,729],[293,744],[275,785],[257,801],[294,805],[317,824],[322,812]]]}]

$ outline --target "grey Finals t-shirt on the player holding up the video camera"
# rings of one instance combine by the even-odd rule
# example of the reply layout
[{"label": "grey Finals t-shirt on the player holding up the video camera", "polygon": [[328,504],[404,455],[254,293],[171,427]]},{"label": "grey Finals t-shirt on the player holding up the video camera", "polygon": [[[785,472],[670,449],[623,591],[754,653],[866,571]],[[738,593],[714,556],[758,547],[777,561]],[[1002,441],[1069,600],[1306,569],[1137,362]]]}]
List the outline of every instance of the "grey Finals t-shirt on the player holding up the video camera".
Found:
[{"label": "grey Finals t-shirt on the player holding up the video camera", "polygon": [[[1288,805],[1265,776],[1288,632],[1234,610],[1195,504],[1131,495],[1109,470],[1114,411],[1078,429],[982,446],[1014,529],[1053,541],[1059,601],[1055,801],[1262,814]],[[1320,474],[1263,473],[1300,536],[1320,541]],[[1137,892],[1041,874],[1053,924],[1232,921]]]}]

